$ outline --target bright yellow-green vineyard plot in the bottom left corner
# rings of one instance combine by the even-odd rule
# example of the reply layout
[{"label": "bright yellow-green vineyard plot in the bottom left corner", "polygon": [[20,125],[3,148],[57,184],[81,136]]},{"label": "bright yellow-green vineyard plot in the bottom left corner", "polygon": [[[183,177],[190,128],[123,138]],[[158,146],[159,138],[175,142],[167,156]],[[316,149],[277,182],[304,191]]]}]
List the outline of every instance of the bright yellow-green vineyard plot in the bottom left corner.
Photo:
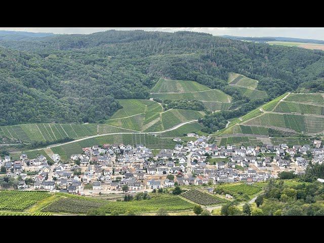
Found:
[{"label": "bright yellow-green vineyard plot in the bottom left corner", "polygon": [[48,197],[46,191],[0,191],[0,210],[22,211]]}]

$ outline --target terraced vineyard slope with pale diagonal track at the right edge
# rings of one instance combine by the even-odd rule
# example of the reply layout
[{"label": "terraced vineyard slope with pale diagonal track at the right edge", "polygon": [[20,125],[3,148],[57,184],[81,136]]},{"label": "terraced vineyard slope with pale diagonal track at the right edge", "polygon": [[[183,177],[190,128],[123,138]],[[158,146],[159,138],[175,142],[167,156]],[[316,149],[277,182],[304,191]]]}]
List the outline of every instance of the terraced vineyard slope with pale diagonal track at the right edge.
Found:
[{"label": "terraced vineyard slope with pale diagonal track at the right edge", "polygon": [[216,134],[267,135],[268,129],[282,132],[322,135],[324,132],[324,94],[286,93],[261,107],[233,119]]}]

